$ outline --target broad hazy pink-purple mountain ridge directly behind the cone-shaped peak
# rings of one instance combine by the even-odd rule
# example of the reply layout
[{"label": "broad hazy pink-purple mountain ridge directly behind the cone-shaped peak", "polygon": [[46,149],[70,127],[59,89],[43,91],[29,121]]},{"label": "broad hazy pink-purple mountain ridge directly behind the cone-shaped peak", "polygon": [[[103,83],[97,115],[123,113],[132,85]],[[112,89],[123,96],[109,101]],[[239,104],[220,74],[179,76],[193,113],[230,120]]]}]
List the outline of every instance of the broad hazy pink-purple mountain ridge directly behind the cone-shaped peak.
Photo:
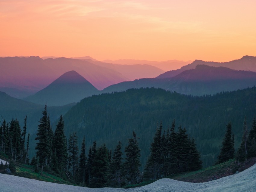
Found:
[{"label": "broad hazy pink-purple mountain ridge directly behind the cone-shaped peak", "polygon": [[67,71],[75,70],[98,89],[129,80],[117,71],[86,60],[69,58],[0,57],[0,87],[39,91]]}]

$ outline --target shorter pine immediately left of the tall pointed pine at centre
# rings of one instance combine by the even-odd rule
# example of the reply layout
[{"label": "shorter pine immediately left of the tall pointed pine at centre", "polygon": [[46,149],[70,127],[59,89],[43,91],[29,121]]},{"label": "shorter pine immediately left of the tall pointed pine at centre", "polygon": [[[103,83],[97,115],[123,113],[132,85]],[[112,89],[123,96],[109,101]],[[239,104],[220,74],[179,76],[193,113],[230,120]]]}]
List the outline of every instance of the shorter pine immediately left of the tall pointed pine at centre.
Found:
[{"label": "shorter pine immediately left of the tall pointed pine at centre", "polygon": [[110,162],[110,186],[121,187],[122,183],[122,155],[121,142],[119,141],[117,147],[114,150],[113,157]]}]

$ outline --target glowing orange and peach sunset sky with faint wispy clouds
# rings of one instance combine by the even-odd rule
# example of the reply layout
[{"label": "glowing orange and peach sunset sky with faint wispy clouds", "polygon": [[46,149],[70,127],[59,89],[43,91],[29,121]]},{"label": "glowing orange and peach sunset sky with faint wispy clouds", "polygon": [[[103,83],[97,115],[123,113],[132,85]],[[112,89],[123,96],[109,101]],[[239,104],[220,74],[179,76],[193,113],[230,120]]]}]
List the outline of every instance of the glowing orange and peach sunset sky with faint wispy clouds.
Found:
[{"label": "glowing orange and peach sunset sky with faint wispy clouds", "polygon": [[0,0],[0,56],[256,56],[255,0]]}]

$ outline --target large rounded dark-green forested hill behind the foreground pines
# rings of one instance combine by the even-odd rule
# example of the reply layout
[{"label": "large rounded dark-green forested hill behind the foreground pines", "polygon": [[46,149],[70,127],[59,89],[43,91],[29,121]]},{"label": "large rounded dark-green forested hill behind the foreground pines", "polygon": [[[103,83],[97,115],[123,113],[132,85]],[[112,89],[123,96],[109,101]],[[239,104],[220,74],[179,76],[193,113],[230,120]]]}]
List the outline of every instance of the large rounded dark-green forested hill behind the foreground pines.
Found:
[{"label": "large rounded dark-green forested hill behind the foreground pines", "polygon": [[[95,95],[81,100],[63,117],[65,133],[73,131],[86,136],[86,146],[93,141],[106,143],[114,149],[118,141],[127,146],[127,138],[135,131],[139,139],[142,164],[145,164],[157,122],[163,129],[186,127],[201,152],[204,166],[214,163],[225,127],[232,122],[235,145],[242,137],[242,125],[247,116],[248,127],[255,115],[256,88],[220,93],[215,96],[187,96],[163,89],[129,89],[125,92]],[[80,138],[82,140],[82,137]]]}]

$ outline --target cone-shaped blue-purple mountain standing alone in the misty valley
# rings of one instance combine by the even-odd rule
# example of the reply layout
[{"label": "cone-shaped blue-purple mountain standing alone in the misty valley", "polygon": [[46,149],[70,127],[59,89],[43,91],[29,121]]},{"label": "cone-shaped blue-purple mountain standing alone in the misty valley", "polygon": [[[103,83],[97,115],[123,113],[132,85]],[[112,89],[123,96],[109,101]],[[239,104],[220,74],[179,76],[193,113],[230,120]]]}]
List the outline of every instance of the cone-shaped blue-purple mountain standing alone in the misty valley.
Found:
[{"label": "cone-shaped blue-purple mountain standing alone in the misty valley", "polygon": [[24,100],[42,105],[47,103],[48,106],[61,106],[97,93],[98,90],[76,71],[69,71]]}]

